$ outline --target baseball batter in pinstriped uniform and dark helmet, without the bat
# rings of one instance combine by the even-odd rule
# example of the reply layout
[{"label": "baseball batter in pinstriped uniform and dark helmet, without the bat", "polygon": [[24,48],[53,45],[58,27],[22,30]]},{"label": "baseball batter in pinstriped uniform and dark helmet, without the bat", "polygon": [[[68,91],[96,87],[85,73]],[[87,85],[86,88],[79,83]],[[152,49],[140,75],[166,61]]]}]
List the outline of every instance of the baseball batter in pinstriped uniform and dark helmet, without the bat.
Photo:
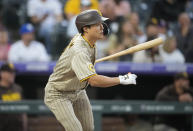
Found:
[{"label": "baseball batter in pinstriped uniform and dark helmet, without the bat", "polygon": [[95,42],[108,34],[97,10],[86,10],[76,18],[79,34],[75,35],[60,56],[45,88],[45,104],[66,131],[93,131],[91,104],[85,88],[136,84],[136,75],[106,77],[95,72]]}]

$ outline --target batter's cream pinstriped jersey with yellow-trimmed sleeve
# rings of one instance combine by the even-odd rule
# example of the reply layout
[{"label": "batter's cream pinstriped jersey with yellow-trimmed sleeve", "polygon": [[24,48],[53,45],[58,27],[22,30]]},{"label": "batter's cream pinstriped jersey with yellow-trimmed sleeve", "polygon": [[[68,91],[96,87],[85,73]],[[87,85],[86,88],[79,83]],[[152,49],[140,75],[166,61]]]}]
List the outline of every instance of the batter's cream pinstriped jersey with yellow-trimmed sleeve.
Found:
[{"label": "batter's cream pinstriped jersey with yellow-trimmed sleeve", "polygon": [[95,46],[81,34],[71,40],[60,56],[48,84],[60,91],[76,91],[87,87],[88,78],[96,75]]}]

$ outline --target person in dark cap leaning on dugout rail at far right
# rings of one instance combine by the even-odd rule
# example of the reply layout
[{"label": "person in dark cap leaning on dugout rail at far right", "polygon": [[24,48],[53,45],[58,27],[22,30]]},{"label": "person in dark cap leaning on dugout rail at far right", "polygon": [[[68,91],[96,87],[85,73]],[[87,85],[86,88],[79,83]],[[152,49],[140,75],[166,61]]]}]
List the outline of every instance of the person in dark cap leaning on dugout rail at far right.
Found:
[{"label": "person in dark cap leaning on dugout rail at far right", "polygon": [[[158,101],[192,102],[192,99],[193,90],[189,85],[188,74],[185,72],[176,74],[174,83],[164,87],[156,96]],[[157,122],[173,127],[178,131],[190,131],[191,120],[185,115],[159,116]]]}]

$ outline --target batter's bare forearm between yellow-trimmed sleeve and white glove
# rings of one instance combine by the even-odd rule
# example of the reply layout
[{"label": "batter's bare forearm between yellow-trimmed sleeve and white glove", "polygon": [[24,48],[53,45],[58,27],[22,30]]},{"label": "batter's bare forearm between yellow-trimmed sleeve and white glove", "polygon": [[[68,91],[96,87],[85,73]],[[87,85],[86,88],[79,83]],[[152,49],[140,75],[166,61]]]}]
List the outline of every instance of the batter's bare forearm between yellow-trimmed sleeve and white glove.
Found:
[{"label": "batter's bare forearm between yellow-trimmed sleeve and white glove", "polygon": [[91,86],[95,87],[111,87],[120,84],[118,77],[107,77],[96,75],[88,79]]}]

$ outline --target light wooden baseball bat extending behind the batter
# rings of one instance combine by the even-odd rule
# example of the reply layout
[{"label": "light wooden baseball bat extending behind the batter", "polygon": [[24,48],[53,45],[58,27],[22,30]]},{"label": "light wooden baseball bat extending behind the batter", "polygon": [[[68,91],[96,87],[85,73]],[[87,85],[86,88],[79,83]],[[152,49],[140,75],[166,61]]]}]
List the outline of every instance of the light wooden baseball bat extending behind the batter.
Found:
[{"label": "light wooden baseball bat extending behind the batter", "polygon": [[109,59],[112,59],[112,58],[116,58],[116,57],[119,57],[119,56],[135,53],[137,51],[146,50],[146,49],[152,48],[154,46],[158,46],[162,43],[163,43],[163,39],[161,37],[159,37],[159,38],[156,38],[154,40],[150,40],[150,41],[138,44],[136,46],[133,46],[131,48],[128,48],[126,50],[120,51],[120,52],[115,53],[113,55],[103,57],[101,59],[96,60],[95,62],[97,63],[97,62],[109,60]]}]

